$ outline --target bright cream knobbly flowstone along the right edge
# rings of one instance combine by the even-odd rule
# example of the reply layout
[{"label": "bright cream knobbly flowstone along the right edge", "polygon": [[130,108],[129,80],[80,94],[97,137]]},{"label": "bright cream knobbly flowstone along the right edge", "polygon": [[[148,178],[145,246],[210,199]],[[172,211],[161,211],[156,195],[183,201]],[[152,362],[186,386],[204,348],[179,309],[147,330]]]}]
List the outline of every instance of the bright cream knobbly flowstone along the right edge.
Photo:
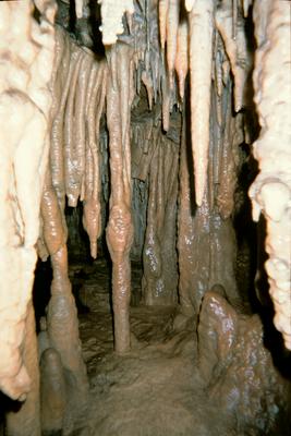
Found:
[{"label": "bright cream knobbly flowstone along the right edge", "polygon": [[[260,133],[253,145],[259,174],[251,186],[253,217],[267,221],[266,262],[275,326],[291,350],[291,10],[287,1],[254,4],[258,49],[253,74]],[[289,78],[288,78],[289,77]]]}]

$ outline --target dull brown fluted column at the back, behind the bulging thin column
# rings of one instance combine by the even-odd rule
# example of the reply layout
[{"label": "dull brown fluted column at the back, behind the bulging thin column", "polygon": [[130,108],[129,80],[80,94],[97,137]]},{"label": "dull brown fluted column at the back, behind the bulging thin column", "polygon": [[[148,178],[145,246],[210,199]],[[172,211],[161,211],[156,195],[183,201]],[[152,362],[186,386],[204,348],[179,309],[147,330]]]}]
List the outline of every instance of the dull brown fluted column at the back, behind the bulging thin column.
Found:
[{"label": "dull brown fluted column at the back, behind the bulging thin column", "polygon": [[[158,125],[150,141],[148,207],[143,247],[143,300],[147,305],[177,302],[175,211],[179,145],[167,138]],[[141,162],[141,166],[143,162]]]}]

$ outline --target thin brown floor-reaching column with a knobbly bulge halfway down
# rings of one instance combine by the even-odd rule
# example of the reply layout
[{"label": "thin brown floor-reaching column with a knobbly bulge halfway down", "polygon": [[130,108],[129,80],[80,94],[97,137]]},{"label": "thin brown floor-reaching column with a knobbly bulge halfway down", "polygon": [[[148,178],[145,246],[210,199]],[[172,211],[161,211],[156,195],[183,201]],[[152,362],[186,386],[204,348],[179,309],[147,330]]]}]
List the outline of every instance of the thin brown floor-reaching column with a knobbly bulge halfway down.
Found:
[{"label": "thin brown floor-reaching column with a knobbly bulge halfway down", "polygon": [[130,110],[133,98],[132,49],[123,44],[117,45],[109,53],[109,62],[107,125],[111,195],[106,238],[113,264],[114,346],[117,352],[124,353],[130,349],[130,249],[133,242],[130,150]]}]

